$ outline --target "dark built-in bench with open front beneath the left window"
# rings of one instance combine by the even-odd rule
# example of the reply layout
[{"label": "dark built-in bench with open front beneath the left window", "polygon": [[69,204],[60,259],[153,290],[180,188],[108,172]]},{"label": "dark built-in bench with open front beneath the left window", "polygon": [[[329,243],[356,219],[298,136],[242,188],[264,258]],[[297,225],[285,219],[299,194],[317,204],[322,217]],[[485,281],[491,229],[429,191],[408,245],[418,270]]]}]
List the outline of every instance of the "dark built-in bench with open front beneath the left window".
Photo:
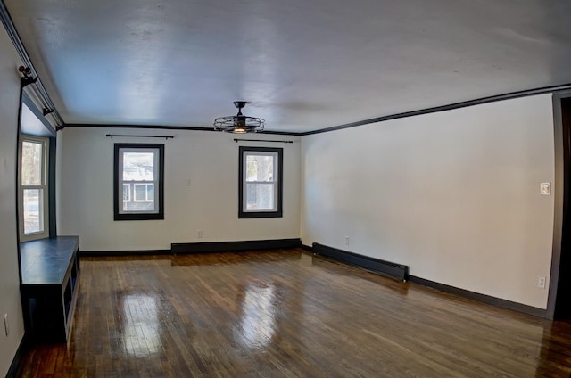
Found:
[{"label": "dark built-in bench with open front beneath the left window", "polygon": [[67,341],[78,294],[79,236],[22,242],[21,301],[29,337]]}]

